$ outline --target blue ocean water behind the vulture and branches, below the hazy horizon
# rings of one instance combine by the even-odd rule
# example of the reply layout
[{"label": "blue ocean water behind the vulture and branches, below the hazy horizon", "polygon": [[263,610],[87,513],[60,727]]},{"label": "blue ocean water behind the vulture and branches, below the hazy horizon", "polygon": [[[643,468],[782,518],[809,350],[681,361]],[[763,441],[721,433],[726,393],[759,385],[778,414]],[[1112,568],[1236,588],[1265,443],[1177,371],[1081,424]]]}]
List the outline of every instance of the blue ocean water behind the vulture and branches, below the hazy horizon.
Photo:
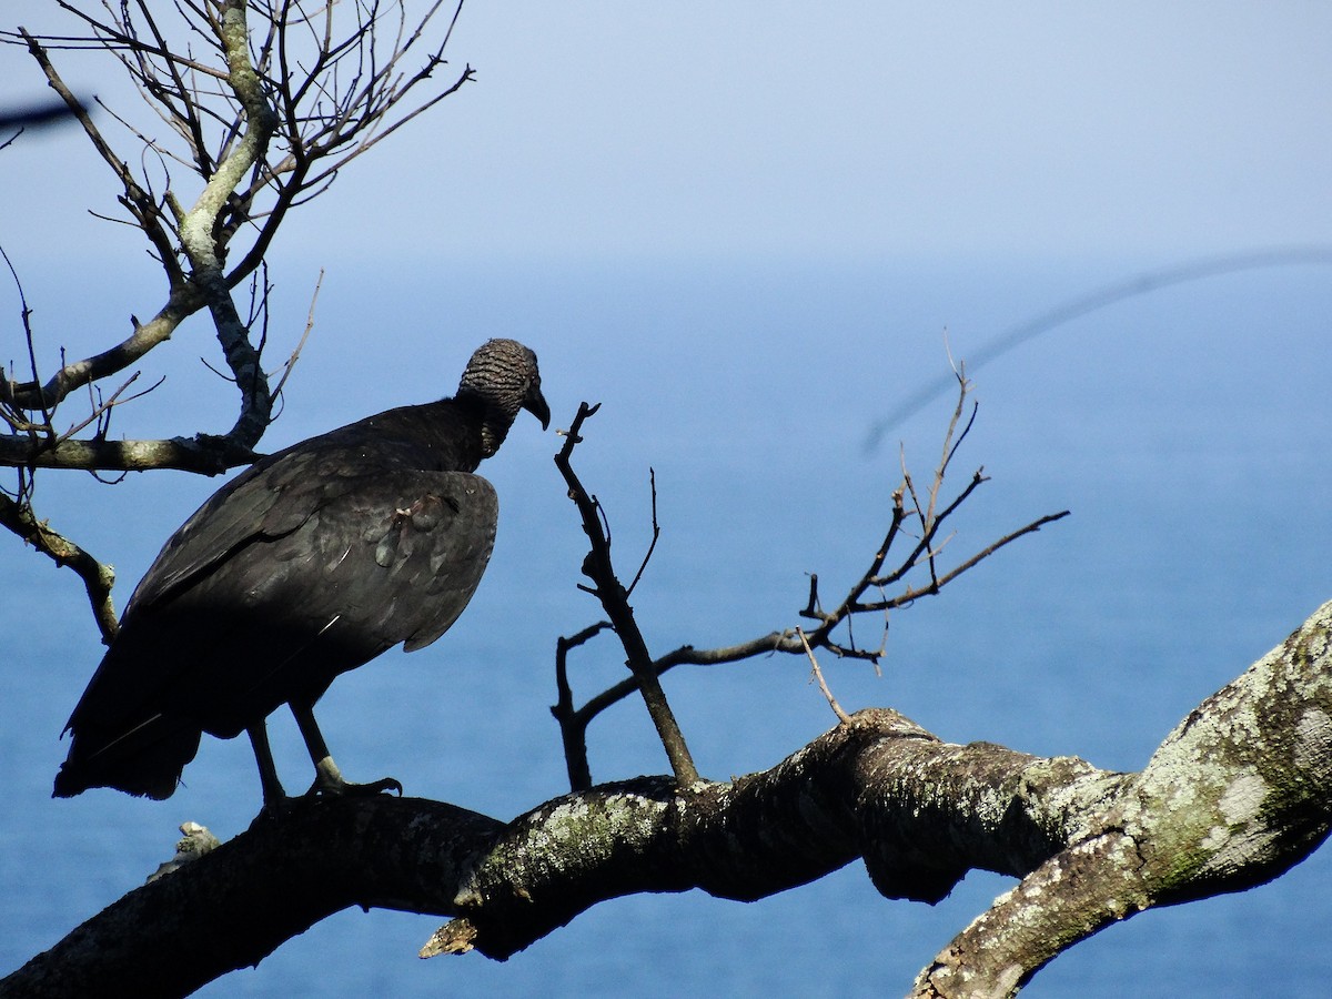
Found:
[{"label": "blue ocean water behind the vulture and branches, below the hazy horizon", "polygon": [[[906,460],[936,460],[952,400],[866,446],[896,400],[988,338],[1139,262],[859,261],[614,266],[460,264],[448,280],[330,268],[270,448],[452,390],[488,336],[541,354],[557,426],[602,410],[577,466],[602,500],[622,574],[662,537],[634,605],[649,642],[722,645],[798,623],[807,573],[831,595],[863,569]],[[281,272],[280,272],[281,273]],[[298,264],[270,336],[304,326]],[[826,661],[847,709],[888,705],[940,737],[1075,754],[1134,770],[1201,698],[1332,598],[1332,282],[1325,268],[1237,272],[1119,302],[971,372],[975,426],[944,489],[984,466],[944,561],[1062,509],[1072,515],[895,614],[882,677]],[[41,346],[91,317],[143,312],[123,288],[64,301],[27,292]],[[373,296],[369,292],[373,289]],[[373,336],[366,336],[366,332]],[[947,337],[944,337],[947,330]],[[196,362],[206,329],[152,358],[168,381],[127,408],[133,436],[224,429],[228,386]],[[73,345],[77,349],[77,345]],[[145,370],[145,378],[153,370]],[[188,406],[188,409],[181,409]],[[173,422],[181,412],[197,422]],[[599,615],[579,593],[581,531],[550,457],[562,438],[519,421],[485,472],[501,533],[472,606],[440,642],[349,674],[318,715],[352,779],[507,818],[566,789],[554,699],[557,635]],[[216,484],[135,476],[116,486],[39,477],[39,510],[120,573],[123,603],[166,534]],[[49,798],[57,737],[96,666],[75,578],[0,538],[0,971],[21,964],[166,859],[186,819],[220,836],[258,807],[244,741],[205,739],[166,802]],[[573,658],[586,697],[618,679],[606,638]],[[701,770],[779,762],[832,717],[806,666],[765,658],[666,679]],[[306,781],[289,718],[272,723],[290,787]],[[661,773],[639,705],[591,731],[595,779]],[[1028,995],[1323,995],[1332,952],[1327,850],[1272,884],[1111,927],[1046,968]],[[432,916],[342,912],[205,996],[900,994],[1011,879],[974,872],[938,906],[887,902],[859,863],[754,904],[701,892],[618,899],[498,964],[421,962]]]}]

